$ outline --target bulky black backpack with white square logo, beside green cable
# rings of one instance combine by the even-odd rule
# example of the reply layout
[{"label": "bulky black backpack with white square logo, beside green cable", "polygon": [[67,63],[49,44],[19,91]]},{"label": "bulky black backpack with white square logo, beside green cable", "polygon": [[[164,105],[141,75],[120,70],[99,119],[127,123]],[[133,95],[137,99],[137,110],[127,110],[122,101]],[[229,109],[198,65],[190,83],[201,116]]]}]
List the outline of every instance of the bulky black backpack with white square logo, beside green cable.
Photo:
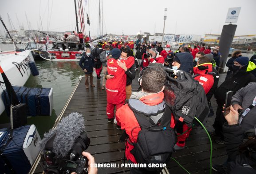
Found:
[{"label": "bulky black backpack with white square logo, beside green cable", "polygon": [[179,71],[177,79],[168,73],[166,79],[165,103],[173,111],[175,120],[184,121],[187,125],[200,125],[194,120],[194,117],[197,117],[205,124],[209,107],[205,90],[199,82],[193,79],[191,74],[182,71]]}]

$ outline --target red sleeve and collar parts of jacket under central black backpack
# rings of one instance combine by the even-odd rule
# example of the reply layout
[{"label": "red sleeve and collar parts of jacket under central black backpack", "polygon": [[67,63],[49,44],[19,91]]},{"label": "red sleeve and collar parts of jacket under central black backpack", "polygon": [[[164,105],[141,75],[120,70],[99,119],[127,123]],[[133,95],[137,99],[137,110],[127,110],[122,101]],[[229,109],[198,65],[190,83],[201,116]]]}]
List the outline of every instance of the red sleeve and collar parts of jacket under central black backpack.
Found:
[{"label": "red sleeve and collar parts of jacket under central black backpack", "polygon": [[[163,102],[164,99],[164,93],[159,92],[157,94],[150,94],[150,95],[145,95],[141,97],[139,100],[146,105],[149,106],[155,106]],[[120,122],[121,124],[121,129],[125,129],[127,135],[129,136],[130,141],[132,143],[137,142],[137,137],[138,137],[138,132],[141,129],[134,129],[135,127],[140,127],[138,124],[138,121],[133,113],[132,110],[130,110],[129,106],[126,104],[119,108],[116,111],[116,119]],[[170,127],[173,128],[175,125],[174,123],[174,117],[172,114],[172,121]],[[133,130],[134,129],[134,130]],[[133,130],[133,131],[132,131]],[[137,163],[136,159],[134,158],[134,155],[131,154],[131,150],[134,148],[134,146],[126,141],[126,158],[127,160],[131,160],[133,163]]]}]

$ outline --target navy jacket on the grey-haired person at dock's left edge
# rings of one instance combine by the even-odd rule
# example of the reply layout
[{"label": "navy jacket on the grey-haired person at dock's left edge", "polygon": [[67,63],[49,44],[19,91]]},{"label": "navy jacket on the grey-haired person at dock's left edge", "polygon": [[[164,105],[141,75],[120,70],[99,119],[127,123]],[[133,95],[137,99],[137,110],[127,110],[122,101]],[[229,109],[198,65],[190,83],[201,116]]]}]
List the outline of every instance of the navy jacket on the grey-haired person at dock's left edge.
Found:
[{"label": "navy jacket on the grey-haired person at dock's left edge", "polygon": [[95,68],[95,62],[92,55],[89,57],[83,53],[82,58],[79,61],[79,66],[84,70],[86,69],[87,72],[84,72],[85,74],[91,74],[93,72],[93,68]]}]

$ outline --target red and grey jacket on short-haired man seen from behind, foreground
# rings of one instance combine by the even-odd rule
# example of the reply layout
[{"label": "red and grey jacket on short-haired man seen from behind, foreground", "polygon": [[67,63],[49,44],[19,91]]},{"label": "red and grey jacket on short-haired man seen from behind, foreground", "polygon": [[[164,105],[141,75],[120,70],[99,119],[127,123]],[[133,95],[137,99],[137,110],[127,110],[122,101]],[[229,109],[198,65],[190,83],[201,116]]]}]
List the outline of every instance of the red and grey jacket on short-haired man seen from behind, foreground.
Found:
[{"label": "red and grey jacket on short-haired man seen from behind, foreground", "polygon": [[[137,92],[131,95],[131,98],[129,99],[129,104],[135,110],[138,110],[142,113],[152,113],[152,115],[155,115],[153,117],[159,119],[163,115],[165,108],[165,102],[163,101],[163,99],[163,92],[155,94]],[[140,127],[140,125],[138,124],[138,121],[128,104],[122,106],[116,111],[116,119],[120,122],[121,129],[125,129],[127,135],[129,136],[128,140],[126,141],[126,158],[133,163],[137,163],[134,155],[131,154],[130,151],[134,149],[132,143],[137,142],[138,132],[141,129],[134,129],[135,127]],[[174,119],[172,119],[172,121],[174,121]],[[171,122],[170,127],[174,127],[174,122]]]}]

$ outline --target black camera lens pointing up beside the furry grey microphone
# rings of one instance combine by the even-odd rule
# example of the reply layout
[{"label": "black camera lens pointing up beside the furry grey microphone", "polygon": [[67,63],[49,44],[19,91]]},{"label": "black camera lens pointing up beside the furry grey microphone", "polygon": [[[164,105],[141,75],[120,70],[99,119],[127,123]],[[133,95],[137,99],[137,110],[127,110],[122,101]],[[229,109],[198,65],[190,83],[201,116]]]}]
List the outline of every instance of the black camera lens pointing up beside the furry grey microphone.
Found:
[{"label": "black camera lens pointing up beside the furry grey microphone", "polygon": [[90,138],[87,137],[87,132],[82,132],[78,138],[75,140],[75,143],[70,151],[70,160],[75,161],[78,159],[82,152],[85,151],[91,143]]}]

